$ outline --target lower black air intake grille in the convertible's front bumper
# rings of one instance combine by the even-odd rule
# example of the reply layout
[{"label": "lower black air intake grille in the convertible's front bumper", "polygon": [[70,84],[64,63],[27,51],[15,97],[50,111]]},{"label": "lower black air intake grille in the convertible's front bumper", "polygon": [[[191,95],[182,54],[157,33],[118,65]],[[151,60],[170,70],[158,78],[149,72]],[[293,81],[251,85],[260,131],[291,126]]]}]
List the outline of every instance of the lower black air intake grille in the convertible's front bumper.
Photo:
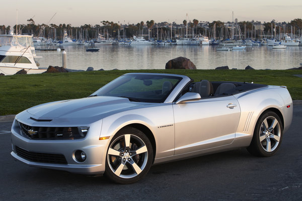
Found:
[{"label": "lower black air intake grille in the convertible's front bumper", "polygon": [[32,162],[67,164],[65,156],[62,154],[30,152],[17,146],[16,152],[18,156]]}]

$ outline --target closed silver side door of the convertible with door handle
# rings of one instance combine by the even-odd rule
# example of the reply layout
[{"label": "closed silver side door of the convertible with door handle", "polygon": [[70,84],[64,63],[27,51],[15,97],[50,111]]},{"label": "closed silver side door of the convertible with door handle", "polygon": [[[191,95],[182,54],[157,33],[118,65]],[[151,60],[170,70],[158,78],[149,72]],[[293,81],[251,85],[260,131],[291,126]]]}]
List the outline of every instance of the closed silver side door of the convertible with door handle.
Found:
[{"label": "closed silver side door of the convertible with door handle", "polygon": [[233,95],[173,104],[175,155],[231,144],[240,119]]}]

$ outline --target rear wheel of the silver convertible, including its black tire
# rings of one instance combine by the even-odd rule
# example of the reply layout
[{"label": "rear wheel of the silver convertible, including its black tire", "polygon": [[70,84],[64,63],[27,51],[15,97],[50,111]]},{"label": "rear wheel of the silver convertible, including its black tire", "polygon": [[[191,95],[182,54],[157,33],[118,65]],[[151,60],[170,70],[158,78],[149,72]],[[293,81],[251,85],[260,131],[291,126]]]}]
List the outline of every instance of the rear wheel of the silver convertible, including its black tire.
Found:
[{"label": "rear wheel of the silver convertible, including its black tire", "polygon": [[283,126],[279,116],[267,111],[259,117],[252,142],[247,149],[256,156],[272,156],[281,145],[282,134]]}]

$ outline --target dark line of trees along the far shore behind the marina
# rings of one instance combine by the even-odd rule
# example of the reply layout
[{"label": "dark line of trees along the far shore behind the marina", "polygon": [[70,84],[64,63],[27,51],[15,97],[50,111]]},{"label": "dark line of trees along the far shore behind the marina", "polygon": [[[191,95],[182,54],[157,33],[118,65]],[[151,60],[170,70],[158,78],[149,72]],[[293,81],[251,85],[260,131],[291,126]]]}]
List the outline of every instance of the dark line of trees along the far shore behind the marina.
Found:
[{"label": "dark line of trees along the far shore behind the marina", "polygon": [[[261,38],[262,36],[287,33],[294,35],[301,35],[302,19],[294,19],[290,22],[278,23],[275,20],[271,22],[261,23],[259,21],[242,21],[233,24],[235,36],[245,35],[245,37]],[[56,40],[62,40],[64,31],[72,39],[91,40],[99,36],[110,37],[114,39],[131,38],[133,36],[145,36],[148,39],[159,39],[163,34],[169,38],[171,36],[172,26],[172,37],[186,37],[186,27],[188,28],[188,35],[193,36],[196,34],[206,35],[210,38],[225,39],[231,38],[231,22],[213,21],[202,22],[194,19],[192,22],[183,21],[183,24],[176,24],[161,22],[156,23],[154,20],[143,21],[137,24],[125,24],[122,25],[120,22],[101,21],[99,25],[85,24],[80,27],[73,27],[71,24],[36,24],[33,19],[27,20],[28,24],[18,25],[18,34],[31,34],[36,37],[45,37]],[[261,28],[259,28],[259,26]],[[14,30],[16,33],[16,25],[12,28],[11,26],[0,26],[0,34],[9,34],[10,30]],[[159,31],[160,30],[160,31]]]}]

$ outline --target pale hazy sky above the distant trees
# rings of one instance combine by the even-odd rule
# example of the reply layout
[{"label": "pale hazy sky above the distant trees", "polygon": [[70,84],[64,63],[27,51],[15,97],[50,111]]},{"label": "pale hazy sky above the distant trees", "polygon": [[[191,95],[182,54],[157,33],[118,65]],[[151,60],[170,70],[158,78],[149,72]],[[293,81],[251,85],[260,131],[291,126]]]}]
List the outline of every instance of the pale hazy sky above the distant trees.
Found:
[{"label": "pale hazy sky above the distant trees", "polygon": [[[17,12],[18,10],[18,12]],[[302,1],[279,0],[14,0],[6,1],[0,12],[0,25],[28,24],[85,24],[97,25],[101,21],[119,24],[137,24],[154,20],[182,24],[188,14],[188,22],[232,22],[234,20],[290,22],[302,19]],[[18,19],[18,20],[17,20]]]}]

